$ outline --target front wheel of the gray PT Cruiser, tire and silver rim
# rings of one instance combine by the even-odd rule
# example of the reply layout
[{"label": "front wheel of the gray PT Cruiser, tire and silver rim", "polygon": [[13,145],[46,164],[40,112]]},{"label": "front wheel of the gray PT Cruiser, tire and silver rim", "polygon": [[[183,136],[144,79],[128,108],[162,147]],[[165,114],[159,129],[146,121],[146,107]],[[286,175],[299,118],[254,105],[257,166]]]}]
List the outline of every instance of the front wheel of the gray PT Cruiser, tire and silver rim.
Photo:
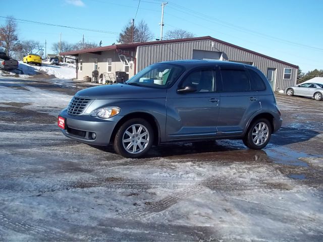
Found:
[{"label": "front wheel of the gray PT Cruiser, tire and silver rim", "polygon": [[117,131],[114,149],[126,158],[141,157],[151,148],[153,135],[151,125],[145,119],[130,119]]}]

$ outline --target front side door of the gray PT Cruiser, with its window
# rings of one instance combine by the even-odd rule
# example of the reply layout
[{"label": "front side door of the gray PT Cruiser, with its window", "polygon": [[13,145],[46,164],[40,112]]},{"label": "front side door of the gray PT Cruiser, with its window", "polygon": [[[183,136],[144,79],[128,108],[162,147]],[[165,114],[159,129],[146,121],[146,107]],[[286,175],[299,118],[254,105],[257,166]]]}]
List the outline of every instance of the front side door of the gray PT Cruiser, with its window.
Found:
[{"label": "front side door of the gray PT Cruiser, with its window", "polygon": [[190,86],[193,92],[180,93],[176,89],[167,94],[166,139],[185,140],[214,138],[220,106],[213,67],[194,69],[175,87]]}]

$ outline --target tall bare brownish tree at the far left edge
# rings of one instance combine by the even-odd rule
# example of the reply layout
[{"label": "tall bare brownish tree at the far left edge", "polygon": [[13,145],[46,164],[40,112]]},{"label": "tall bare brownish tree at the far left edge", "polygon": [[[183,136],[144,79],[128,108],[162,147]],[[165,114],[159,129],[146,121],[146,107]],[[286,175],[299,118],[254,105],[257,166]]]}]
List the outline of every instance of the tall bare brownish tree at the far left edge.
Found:
[{"label": "tall bare brownish tree at the far left edge", "polygon": [[11,56],[17,43],[17,24],[13,17],[9,17],[6,25],[2,25],[0,28],[0,46],[5,49],[8,56]]}]

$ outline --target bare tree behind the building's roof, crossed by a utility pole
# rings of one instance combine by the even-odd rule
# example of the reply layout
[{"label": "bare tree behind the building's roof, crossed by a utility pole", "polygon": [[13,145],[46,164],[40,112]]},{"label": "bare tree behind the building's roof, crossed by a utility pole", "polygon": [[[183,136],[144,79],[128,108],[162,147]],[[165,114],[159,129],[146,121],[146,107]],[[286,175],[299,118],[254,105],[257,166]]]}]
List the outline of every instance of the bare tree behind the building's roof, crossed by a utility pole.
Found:
[{"label": "bare tree behind the building's roof, crossed by a utility pole", "polygon": [[[149,30],[148,25],[141,20],[138,25],[133,28],[133,42],[147,42],[153,38],[153,34]],[[119,43],[127,44],[132,42],[132,23],[129,23],[119,34],[117,39]]]}]

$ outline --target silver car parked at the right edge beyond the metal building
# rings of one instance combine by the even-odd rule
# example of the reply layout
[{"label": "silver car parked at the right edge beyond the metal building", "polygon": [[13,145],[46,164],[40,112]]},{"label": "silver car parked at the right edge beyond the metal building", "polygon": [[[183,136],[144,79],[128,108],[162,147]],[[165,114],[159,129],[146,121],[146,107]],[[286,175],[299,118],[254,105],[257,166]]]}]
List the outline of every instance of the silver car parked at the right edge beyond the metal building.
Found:
[{"label": "silver car parked at the right edge beyond the metal building", "polygon": [[303,83],[297,86],[286,88],[288,96],[311,97],[317,101],[323,99],[323,84],[319,83]]}]

